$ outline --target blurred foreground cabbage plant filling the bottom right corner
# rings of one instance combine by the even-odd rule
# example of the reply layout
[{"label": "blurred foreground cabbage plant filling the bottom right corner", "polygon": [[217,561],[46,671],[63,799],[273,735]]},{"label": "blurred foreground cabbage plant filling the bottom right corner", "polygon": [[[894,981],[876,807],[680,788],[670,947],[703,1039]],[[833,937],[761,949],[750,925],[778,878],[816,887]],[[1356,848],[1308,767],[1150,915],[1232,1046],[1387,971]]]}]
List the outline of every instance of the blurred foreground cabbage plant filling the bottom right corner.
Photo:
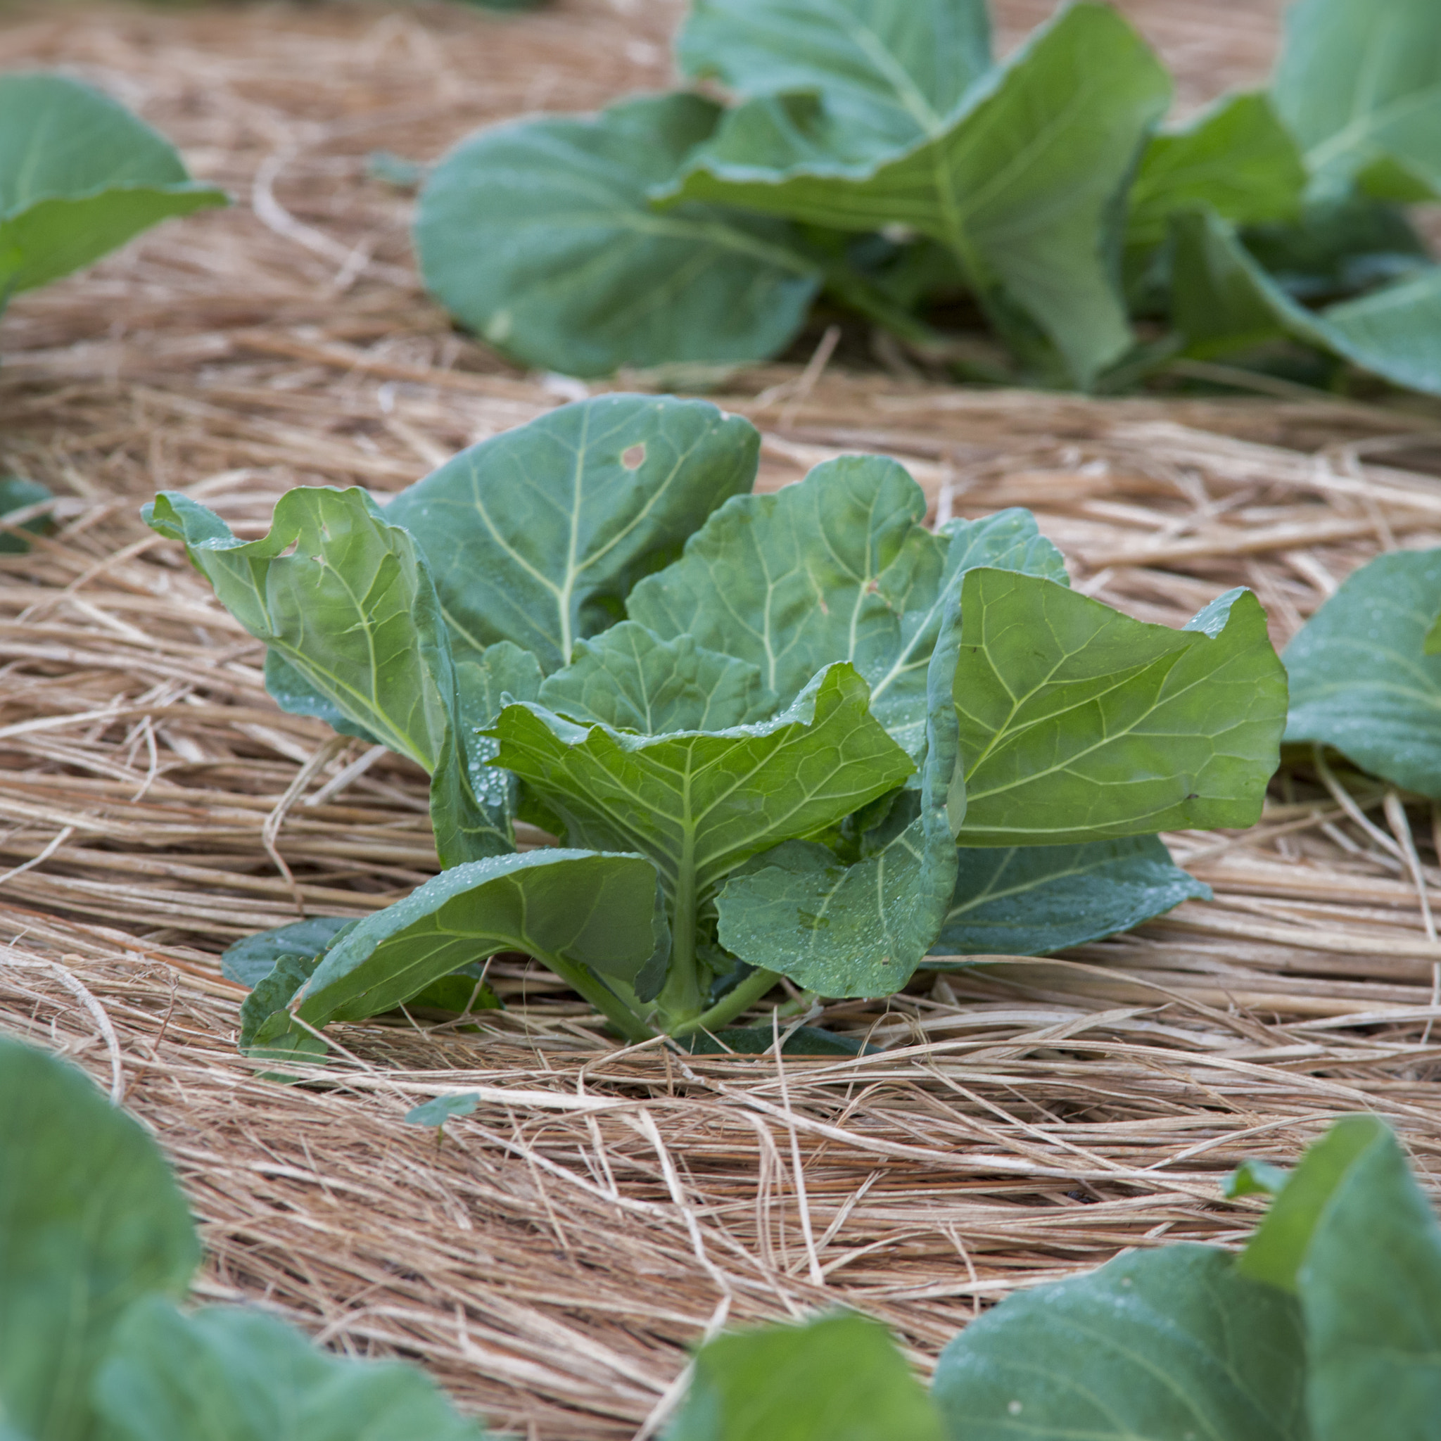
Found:
[{"label": "blurred foreground cabbage plant filling the bottom right corner", "polygon": [[859,1316],[702,1347],[666,1441],[1428,1441],[1441,1226],[1388,1127],[1337,1121],[1241,1255],[1180,1242],[1020,1291],[941,1353],[929,1396]]}]

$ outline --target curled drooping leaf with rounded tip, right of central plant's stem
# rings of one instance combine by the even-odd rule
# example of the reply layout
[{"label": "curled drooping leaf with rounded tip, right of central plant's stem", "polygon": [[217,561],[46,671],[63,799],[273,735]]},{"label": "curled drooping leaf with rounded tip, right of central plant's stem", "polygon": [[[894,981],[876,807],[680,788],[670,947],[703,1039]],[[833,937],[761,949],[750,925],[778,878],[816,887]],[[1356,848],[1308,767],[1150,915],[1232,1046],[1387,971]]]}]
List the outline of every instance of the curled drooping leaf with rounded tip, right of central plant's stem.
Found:
[{"label": "curled drooping leaf with rounded tip, right of central plant's stem", "polygon": [[716,901],[720,944],[761,970],[823,996],[889,996],[915,971],[955,889],[955,830],[965,807],[957,768],[953,686],[957,597],[941,620],[927,677],[919,810],[911,807],[850,866],[810,842],[790,842],[732,878]]}]

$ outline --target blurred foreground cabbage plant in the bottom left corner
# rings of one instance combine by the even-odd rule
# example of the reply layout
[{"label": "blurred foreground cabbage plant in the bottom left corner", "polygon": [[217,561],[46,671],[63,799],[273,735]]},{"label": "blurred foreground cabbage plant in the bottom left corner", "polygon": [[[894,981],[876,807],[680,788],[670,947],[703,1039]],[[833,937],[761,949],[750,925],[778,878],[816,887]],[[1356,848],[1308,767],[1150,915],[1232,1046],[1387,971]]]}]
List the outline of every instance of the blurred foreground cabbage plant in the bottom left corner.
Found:
[{"label": "blurred foreground cabbage plant in the bottom left corner", "polygon": [[156,1143],[72,1066],[0,1039],[4,1441],[480,1441],[412,1366],[261,1311],[182,1311],[200,1245]]}]

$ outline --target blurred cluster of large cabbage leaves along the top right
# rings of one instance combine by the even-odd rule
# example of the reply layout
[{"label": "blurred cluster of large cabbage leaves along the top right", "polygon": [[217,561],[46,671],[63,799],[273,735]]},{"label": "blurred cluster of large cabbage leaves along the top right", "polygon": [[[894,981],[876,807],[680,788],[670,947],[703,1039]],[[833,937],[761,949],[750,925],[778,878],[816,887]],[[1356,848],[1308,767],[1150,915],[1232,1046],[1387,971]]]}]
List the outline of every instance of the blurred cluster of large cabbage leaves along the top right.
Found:
[{"label": "blurred cluster of large cabbage leaves along the top right", "polygon": [[[1157,133],[1170,81],[1108,6],[991,59],[984,0],[693,0],[719,84],[478,131],[424,186],[429,290],[571,375],[777,354],[817,295],[931,357],[968,297],[1012,367],[1130,383],[1301,342],[1441,393],[1441,9],[1300,0],[1267,92]],[[1143,321],[1143,331],[1136,330]],[[954,326],[953,326],[954,329]]]}]

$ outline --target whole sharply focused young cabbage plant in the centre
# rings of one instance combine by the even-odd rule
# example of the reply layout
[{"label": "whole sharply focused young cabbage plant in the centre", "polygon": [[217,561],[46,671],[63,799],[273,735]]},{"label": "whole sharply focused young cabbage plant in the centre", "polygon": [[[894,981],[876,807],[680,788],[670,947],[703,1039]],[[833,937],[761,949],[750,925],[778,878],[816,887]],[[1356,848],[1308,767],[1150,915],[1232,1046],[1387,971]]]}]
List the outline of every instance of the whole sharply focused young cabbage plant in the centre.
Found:
[{"label": "whole sharply focused young cabbage plant in the centre", "polygon": [[[1056,950],[1208,893],[1156,833],[1259,813],[1285,679],[1251,592],[1146,625],[1071,591],[1027,512],[928,532],[866,455],[752,496],[758,448],[705,402],[618,395],[385,510],[293,490],[261,540],[147,507],[285,709],[431,775],[447,869],[233,953],[242,1045],[323,1052],[327,1022],[496,951],[624,1036],[695,1036],[781,976],[885,996],[928,953]],[[516,817],[562,846],[516,852]]]}]

